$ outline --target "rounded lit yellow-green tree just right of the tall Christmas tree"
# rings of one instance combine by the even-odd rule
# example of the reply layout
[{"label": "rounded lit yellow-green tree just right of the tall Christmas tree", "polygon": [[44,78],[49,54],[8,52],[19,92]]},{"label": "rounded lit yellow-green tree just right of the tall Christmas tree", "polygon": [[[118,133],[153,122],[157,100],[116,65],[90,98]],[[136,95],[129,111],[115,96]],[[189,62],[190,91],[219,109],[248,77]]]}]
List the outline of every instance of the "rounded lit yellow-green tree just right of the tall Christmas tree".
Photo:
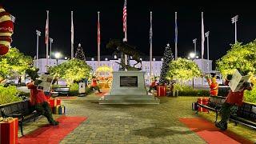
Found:
[{"label": "rounded lit yellow-green tree just right of the tall Christmas tree", "polygon": [[177,60],[170,62],[166,78],[184,82],[191,80],[194,77],[199,77],[201,74],[202,73],[195,62],[186,58],[178,58]]}]

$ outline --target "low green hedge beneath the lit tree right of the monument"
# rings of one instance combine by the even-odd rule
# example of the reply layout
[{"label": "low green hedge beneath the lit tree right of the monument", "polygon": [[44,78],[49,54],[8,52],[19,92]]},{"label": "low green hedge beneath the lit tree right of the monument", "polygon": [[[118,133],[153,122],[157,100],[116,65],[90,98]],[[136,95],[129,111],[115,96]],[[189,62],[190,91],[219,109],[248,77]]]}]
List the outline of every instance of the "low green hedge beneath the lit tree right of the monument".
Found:
[{"label": "low green hedge beneath the lit tree right of the monument", "polygon": [[194,90],[192,86],[175,84],[174,90],[181,96],[210,96],[209,90]]}]

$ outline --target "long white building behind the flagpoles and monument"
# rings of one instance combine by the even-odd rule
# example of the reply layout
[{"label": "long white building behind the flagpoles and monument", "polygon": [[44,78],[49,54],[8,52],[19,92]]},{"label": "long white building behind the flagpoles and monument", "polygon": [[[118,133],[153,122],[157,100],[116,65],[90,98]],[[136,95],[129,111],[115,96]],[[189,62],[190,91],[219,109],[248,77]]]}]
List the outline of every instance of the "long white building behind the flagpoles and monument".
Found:
[{"label": "long white building behind the flagpoles and monument", "polygon": [[[90,60],[89,60],[90,59]],[[102,56],[102,60],[100,62],[100,66],[110,66],[114,71],[119,70],[119,64],[116,62],[120,62],[120,58],[105,58]],[[64,59],[59,59],[58,64],[61,64],[62,62],[66,62]],[[203,62],[203,71],[204,72],[211,72],[212,71],[212,61],[209,61],[209,70],[208,70],[208,62],[206,59],[195,59],[194,62],[198,64],[199,69],[202,69],[202,62]],[[57,61],[56,59],[48,59],[48,66],[56,66]],[[86,58],[86,63],[92,67],[93,71],[97,69],[97,61],[96,58]],[[134,63],[136,63],[134,60],[130,60],[130,65],[133,66]],[[36,66],[36,60],[34,60],[34,66]],[[136,67],[140,67],[140,64],[138,64]],[[38,59],[38,68],[39,68],[39,73],[43,74],[46,73],[46,58],[40,58]],[[162,68],[162,58],[153,58],[152,61],[152,75],[154,76],[160,76],[161,73],[161,68]],[[142,71],[145,71],[145,78],[146,78],[146,84],[150,84],[150,61],[143,61],[142,58]],[[207,85],[206,79],[204,78],[204,86]],[[192,85],[192,82],[188,82],[188,84]],[[202,86],[202,78],[195,78],[194,79],[194,85],[195,86]]]}]

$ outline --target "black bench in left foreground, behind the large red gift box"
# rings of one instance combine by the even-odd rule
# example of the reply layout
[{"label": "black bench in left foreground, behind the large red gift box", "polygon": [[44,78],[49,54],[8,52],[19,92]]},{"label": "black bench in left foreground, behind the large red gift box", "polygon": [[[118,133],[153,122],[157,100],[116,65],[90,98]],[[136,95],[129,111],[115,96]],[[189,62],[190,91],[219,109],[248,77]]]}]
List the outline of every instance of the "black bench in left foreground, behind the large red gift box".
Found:
[{"label": "black bench in left foreground, behind the large red gift box", "polygon": [[38,114],[32,106],[30,106],[30,101],[28,99],[20,102],[12,102],[5,105],[0,105],[0,117],[8,118],[18,118],[18,125],[21,128],[22,136],[23,134],[23,124],[30,122],[38,118]]}]

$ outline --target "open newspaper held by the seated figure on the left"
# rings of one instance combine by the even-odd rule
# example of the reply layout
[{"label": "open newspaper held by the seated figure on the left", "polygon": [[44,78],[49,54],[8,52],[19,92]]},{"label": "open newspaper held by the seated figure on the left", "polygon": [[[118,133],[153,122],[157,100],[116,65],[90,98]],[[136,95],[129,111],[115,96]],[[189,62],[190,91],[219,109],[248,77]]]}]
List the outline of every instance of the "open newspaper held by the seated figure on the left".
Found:
[{"label": "open newspaper held by the seated figure on the left", "polygon": [[38,84],[38,90],[50,91],[50,86],[54,81],[54,76],[50,76],[48,74],[42,74],[40,78],[38,78],[42,82]]}]

